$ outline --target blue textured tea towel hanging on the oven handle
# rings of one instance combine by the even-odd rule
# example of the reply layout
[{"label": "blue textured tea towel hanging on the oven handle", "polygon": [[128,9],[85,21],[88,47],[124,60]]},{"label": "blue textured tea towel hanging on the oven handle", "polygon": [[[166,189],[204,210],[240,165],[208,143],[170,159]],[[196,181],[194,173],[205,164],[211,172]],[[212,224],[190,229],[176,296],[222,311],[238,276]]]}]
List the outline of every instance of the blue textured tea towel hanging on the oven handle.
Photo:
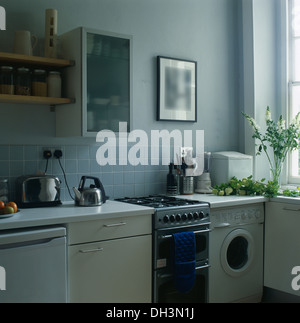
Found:
[{"label": "blue textured tea towel hanging on the oven handle", "polygon": [[181,293],[188,293],[195,283],[196,246],[192,231],[173,234],[174,284]]}]

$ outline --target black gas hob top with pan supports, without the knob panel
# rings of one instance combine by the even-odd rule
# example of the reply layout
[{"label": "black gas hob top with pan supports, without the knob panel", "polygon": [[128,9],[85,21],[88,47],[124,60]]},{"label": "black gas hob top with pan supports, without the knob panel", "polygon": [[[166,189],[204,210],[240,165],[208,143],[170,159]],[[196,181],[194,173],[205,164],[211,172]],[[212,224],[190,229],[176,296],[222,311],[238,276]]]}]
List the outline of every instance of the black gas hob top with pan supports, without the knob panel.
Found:
[{"label": "black gas hob top with pan supports, without the knob panel", "polygon": [[153,207],[155,209],[170,208],[170,207],[189,207],[189,206],[200,206],[206,202],[200,202],[196,200],[181,199],[174,196],[167,195],[150,195],[146,197],[124,197],[116,199],[116,201]]}]

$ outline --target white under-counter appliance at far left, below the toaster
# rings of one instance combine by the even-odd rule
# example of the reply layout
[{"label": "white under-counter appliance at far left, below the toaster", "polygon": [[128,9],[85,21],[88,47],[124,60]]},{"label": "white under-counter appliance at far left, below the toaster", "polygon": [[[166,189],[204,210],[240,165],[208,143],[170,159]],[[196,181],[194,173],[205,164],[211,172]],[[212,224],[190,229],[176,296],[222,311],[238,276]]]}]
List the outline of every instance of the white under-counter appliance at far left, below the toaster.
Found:
[{"label": "white under-counter appliance at far left, below the toaster", "polygon": [[67,301],[66,229],[0,231],[0,303]]}]

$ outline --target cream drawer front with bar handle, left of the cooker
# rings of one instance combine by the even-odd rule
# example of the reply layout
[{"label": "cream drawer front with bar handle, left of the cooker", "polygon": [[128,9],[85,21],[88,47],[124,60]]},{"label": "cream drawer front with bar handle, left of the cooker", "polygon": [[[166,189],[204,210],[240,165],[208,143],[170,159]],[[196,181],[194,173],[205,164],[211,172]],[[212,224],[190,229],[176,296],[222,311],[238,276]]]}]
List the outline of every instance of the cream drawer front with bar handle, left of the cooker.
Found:
[{"label": "cream drawer front with bar handle, left of the cooker", "polygon": [[117,217],[68,224],[69,245],[151,234],[151,215]]}]

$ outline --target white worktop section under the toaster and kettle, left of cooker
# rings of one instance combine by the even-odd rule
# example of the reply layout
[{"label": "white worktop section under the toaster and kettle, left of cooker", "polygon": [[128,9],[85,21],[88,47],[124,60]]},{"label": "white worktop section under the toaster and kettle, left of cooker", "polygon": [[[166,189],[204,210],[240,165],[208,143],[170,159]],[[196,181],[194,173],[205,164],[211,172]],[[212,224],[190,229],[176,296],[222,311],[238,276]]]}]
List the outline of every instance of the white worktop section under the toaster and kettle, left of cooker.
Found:
[{"label": "white worktop section under the toaster and kettle, left of cooker", "polygon": [[1,218],[0,215],[0,230],[67,224],[121,216],[151,215],[153,213],[153,208],[110,200],[101,206],[92,207],[80,207],[75,206],[74,202],[64,202],[62,205],[54,207],[21,209],[20,212],[7,218]]}]

